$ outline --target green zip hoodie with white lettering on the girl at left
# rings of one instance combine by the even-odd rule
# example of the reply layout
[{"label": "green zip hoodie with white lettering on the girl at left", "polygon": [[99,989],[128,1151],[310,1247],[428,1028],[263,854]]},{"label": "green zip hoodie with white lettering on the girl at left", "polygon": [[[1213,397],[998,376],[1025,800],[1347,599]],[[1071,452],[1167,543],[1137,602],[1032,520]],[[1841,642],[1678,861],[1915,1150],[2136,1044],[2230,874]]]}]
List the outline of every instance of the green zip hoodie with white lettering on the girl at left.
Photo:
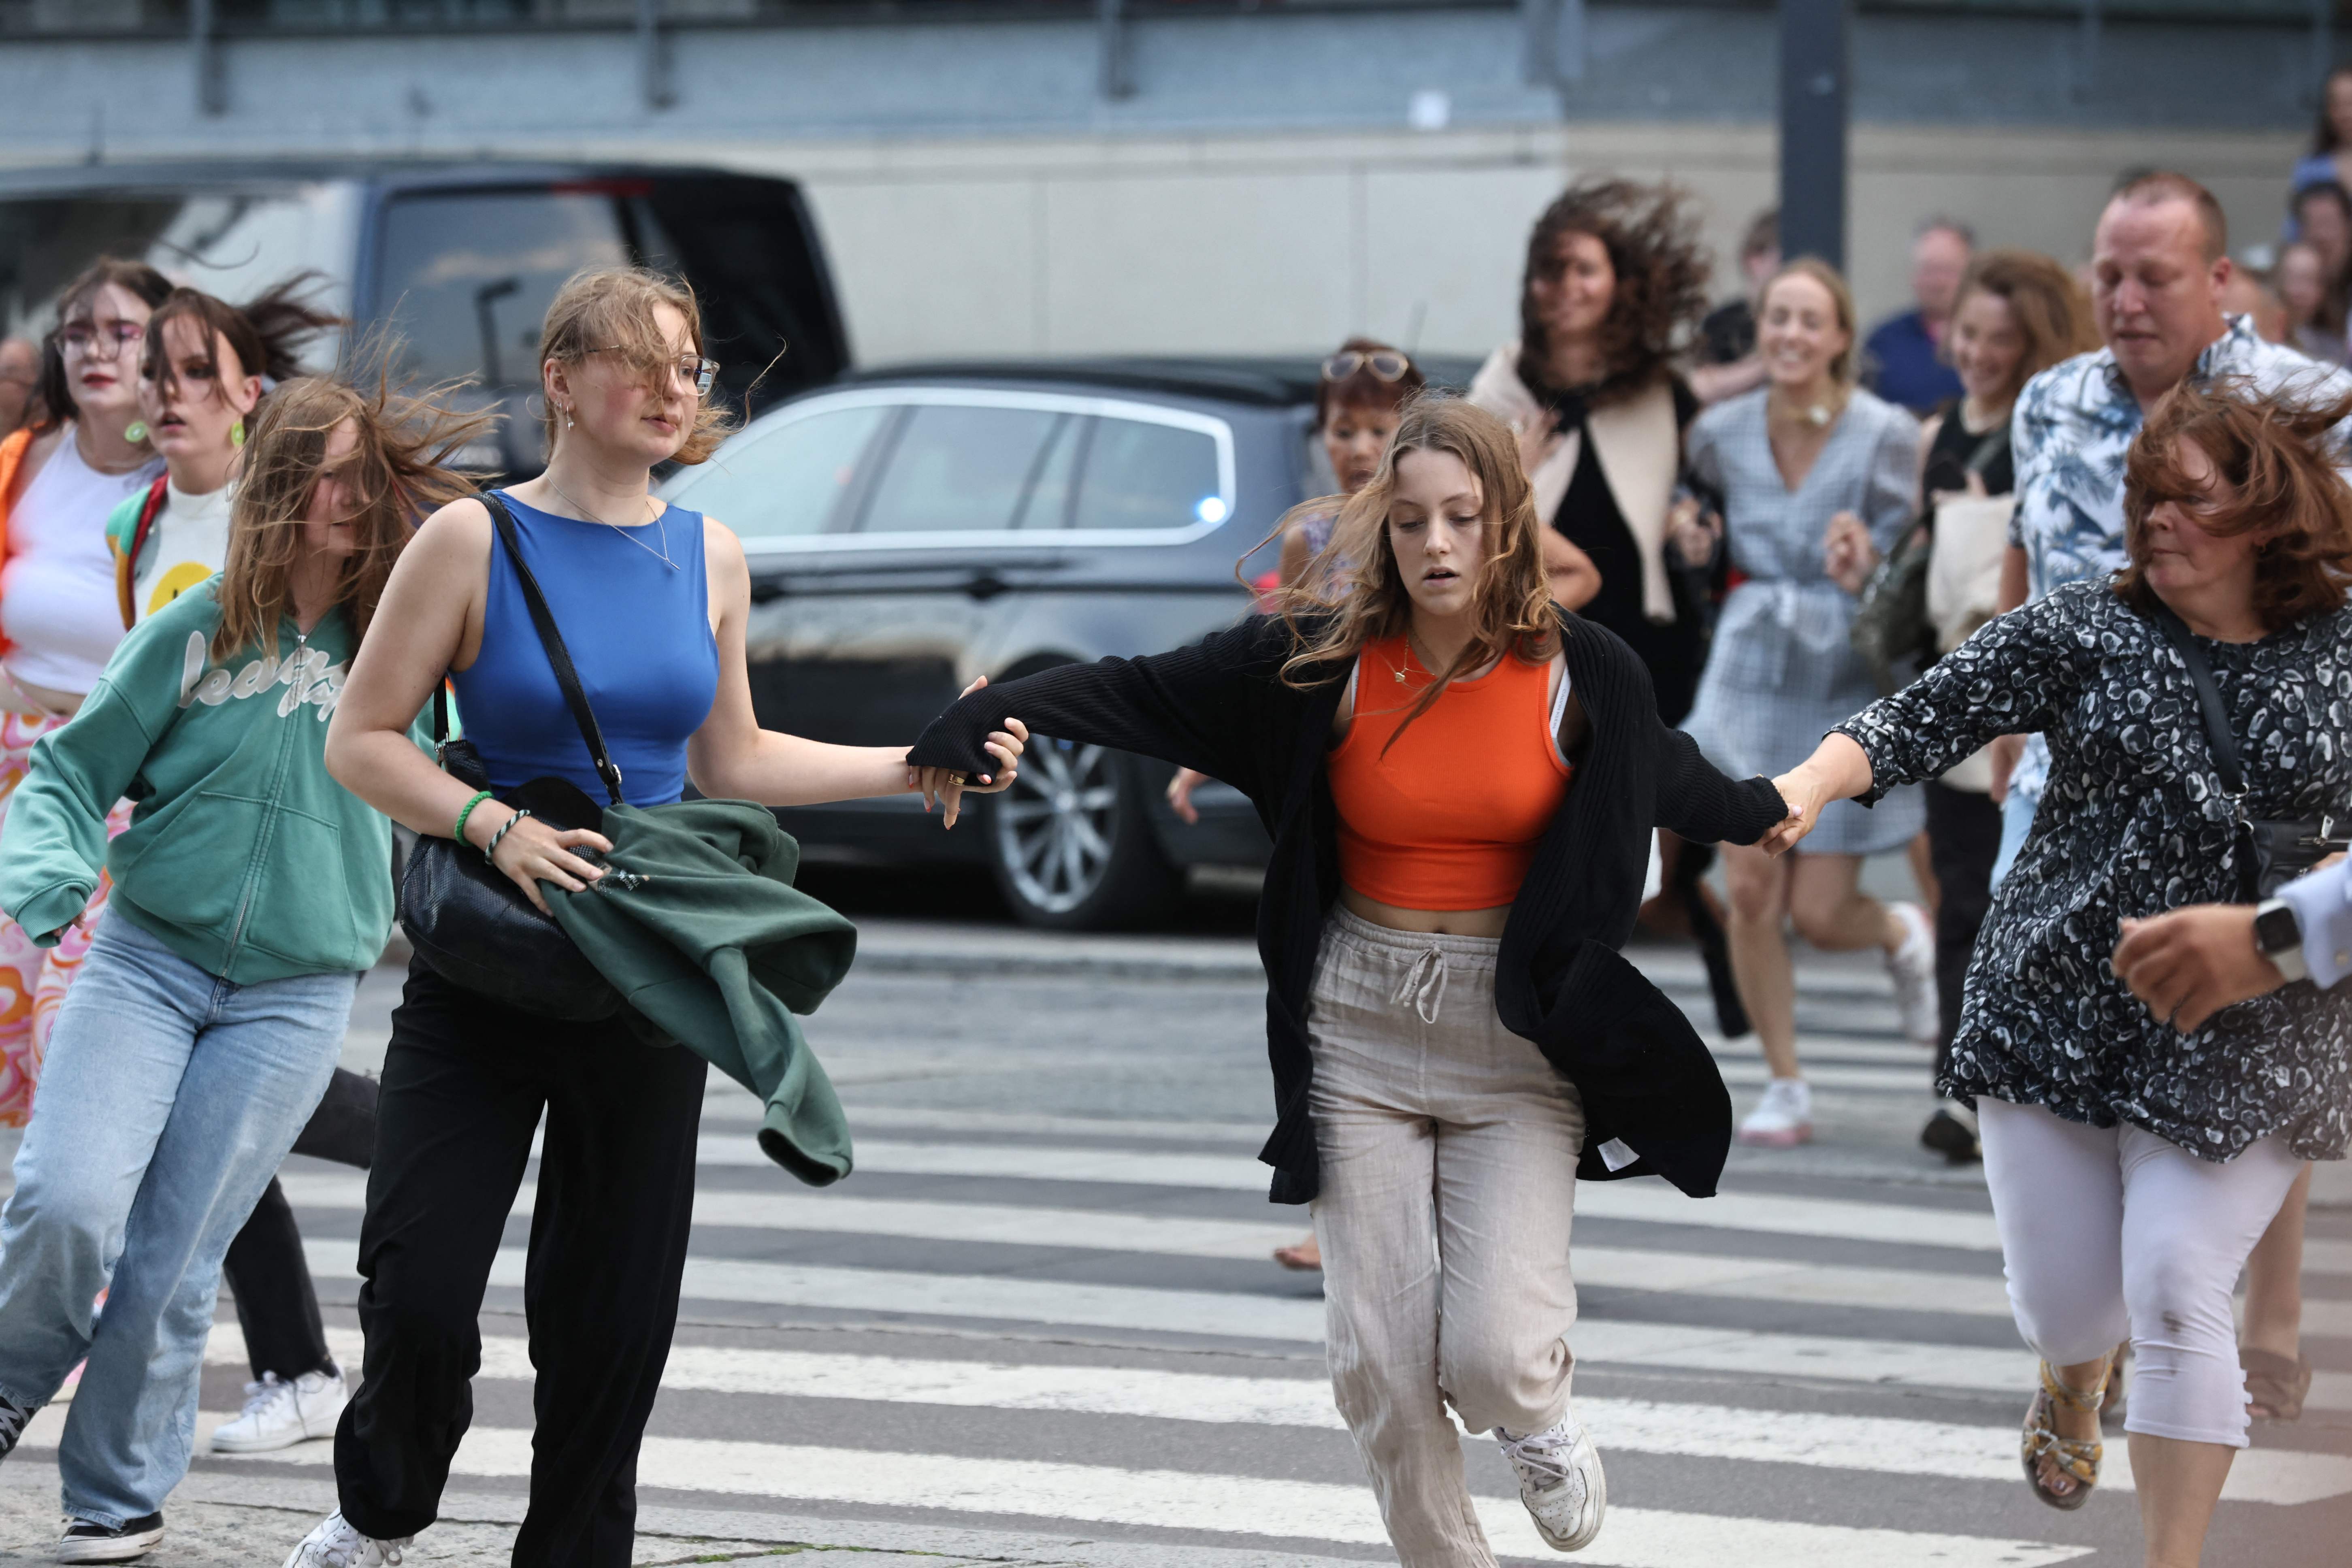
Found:
[{"label": "green zip hoodie with white lettering on the girl at left", "polygon": [[[350,651],[334,609],[280,656],[214,663],[219,578],[141,621],[71,724],[33,743],[0,827],[0,910],[35,943],[108,907],[235,985],[367,969],[393,924],[393,832],[327,776],[327,719]],[[106,842],[115,799],[132,825]]]}]

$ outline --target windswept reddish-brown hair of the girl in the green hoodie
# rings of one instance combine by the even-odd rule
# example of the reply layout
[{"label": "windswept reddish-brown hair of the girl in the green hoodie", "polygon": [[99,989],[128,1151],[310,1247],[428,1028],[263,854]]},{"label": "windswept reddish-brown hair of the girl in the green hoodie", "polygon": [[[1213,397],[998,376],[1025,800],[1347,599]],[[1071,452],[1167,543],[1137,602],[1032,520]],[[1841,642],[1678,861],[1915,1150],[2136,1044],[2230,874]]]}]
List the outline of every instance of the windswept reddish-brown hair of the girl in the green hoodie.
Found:
[{"label": "windswept reddish-brown hair of the girl in the green hoodie", "polygon": [[447,407],[452,388],[421,397],[393,390],[386,374],[369,393],[334,376],[296,376],[261,400],[245,440],[245,468],[228,508],[228,567],[221,571],[221,625],[212,656],[242,649],[278,654],[278,623],[292,607],[294,564],[303,550],[303,515],[327,461],[327,442],[350,425],[358,447],[339,470],[350,487],[350,555],[334,602],[367,635],[383,599],[383,581],[428,512],[475,494],[475,477],[456,470],[463,447],[489,435],[496,416]]}]

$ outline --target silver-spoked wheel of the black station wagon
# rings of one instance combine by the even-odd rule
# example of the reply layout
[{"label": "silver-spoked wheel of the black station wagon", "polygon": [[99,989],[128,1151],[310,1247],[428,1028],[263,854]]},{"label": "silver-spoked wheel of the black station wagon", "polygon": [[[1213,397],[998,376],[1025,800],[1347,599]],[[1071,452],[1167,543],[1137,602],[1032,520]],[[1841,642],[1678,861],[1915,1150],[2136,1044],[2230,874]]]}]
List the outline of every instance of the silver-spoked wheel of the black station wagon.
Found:
[{"label": "silver-spoked wheel of the black station wagon", "polygon": [[1025,926],[1136,926],[1183,891],[1152,839],[1131,757],[1101,745],[1030,741],[1021,771],[990,797],[990,867]]}]

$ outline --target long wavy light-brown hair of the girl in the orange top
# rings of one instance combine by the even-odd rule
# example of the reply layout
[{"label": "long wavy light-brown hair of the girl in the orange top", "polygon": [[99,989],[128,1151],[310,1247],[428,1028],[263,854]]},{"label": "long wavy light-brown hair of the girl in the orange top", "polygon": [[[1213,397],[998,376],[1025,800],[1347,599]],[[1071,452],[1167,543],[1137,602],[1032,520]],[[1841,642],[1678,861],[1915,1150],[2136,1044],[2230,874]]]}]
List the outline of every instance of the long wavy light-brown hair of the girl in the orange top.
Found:
[{"label": "long wavy light-brown hair of the girl in the orange top", "polygon": [[[1545,663],[1559,646],[1559,621],[1552,616],[1552,590],[1538,543],[1543,522],[1536,517],[1536,491],[1519,465],[1517,440],[1486,409],[1454,395],[1425,393],[1404,404],[1397,437],[1388,444],[1371,484],[1345,498],[1324,496],[1305,503],[1305,508],[1336,508],[1338,522],[1315,567],[1298,578],[1298,585],[1279,590],[1272,599],[1272,611],[1291,632],[1282,682],[1308,689],[1341,679],[1367,642],[1402,637],[1411,625],[1414,599],[1397,571],[1388,508],[1397,498],[1397,461],[1414,451],[1442,451],[1470,470],[1482,501],[1479,536],[1486,548],[1470,585],[1470,644],[1451,665],[1437,670],[1437,679],[1397,726],[1399,736],[1458,675],[1484,670],[1505,654]],[[1279,527],[1287,524],[1289,517]]]}]

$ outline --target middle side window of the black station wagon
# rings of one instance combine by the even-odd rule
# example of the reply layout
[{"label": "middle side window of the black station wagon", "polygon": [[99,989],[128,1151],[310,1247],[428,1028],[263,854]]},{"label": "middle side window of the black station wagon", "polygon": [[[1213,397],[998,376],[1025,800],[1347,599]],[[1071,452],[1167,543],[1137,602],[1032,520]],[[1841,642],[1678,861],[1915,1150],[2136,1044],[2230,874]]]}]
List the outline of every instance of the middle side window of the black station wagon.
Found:
[{"label": "middle side window of the black station wagon", "polygon": [[1051,409],[915,404],[858,527],[868,534],[1009,529],[1040,458],[1051,456],[1047,442],[1065,423]]}]

